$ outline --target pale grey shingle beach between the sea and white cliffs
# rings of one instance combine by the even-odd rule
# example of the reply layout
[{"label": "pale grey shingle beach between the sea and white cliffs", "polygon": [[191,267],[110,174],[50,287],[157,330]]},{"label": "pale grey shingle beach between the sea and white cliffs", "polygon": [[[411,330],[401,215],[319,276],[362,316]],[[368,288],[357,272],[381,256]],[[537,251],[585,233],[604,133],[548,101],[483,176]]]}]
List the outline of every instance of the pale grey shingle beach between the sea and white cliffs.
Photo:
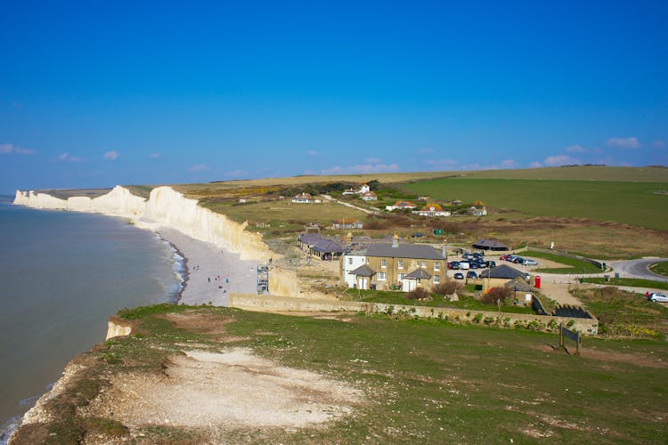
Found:
[{"label": "pale grey shingle beach between the sea and white cliffs", "polygon": [[178,303],[228,306],[232,292],[256,293],[257,261],[240,260],[239,254],[169,227],[156,232],[184,258],[185,281]]}]

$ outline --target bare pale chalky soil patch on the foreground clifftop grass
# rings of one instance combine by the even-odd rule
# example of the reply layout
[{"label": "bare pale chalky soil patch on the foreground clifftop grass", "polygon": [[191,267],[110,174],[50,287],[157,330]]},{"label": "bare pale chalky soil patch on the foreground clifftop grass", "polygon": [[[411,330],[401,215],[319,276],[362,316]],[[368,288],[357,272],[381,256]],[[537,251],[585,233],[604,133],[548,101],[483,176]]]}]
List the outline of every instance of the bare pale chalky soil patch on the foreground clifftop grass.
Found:
[{"label": "bare pale chalky soil patch on the foreground clifftop grass", "polygon": [[123,425],[289,428],[350,414],[363,392],[245,348],[174,355],[162,375],[113,376],[89,414]]}]

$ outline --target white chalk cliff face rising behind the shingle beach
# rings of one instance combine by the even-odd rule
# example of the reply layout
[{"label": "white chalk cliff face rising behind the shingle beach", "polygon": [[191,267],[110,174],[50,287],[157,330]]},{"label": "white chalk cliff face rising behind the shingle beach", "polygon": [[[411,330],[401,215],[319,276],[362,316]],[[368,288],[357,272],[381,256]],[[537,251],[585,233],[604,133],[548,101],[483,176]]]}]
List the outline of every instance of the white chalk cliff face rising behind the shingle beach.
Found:
[{"label": "white chalk cliff face rising behind the shingle beach", "polygon": [[[147,201],[129,190],[116,186],[98,198],[54,198],[32,190],[16,191],[14,204],[53,210],[71,210],[122,216],[143,229],[172,227],[194,239],[200,239],[240,254],[242,260],[265,262],[276,257],[257,233],[245,231],[246,223],[234,223],[223,214],[198,206],[197,200],[184,198],[171,187],[151,190]],[[299,295],[297,277],[292,271],[276,270],[270,274],[269,287],[275,295]]]}]

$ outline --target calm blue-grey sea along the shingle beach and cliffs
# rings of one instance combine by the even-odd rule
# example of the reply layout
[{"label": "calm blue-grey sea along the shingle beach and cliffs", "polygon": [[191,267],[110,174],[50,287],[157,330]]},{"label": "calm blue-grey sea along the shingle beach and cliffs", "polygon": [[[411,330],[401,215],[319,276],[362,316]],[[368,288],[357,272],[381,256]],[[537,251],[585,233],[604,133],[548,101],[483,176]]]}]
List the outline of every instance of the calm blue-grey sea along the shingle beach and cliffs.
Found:
[{"label": "calm blue-grey sea along the shingle beach and cliffs", "polygon": [[[0,443],[123,308],[175,303],[183,257],[122,218],[0,195]],[[4,436],[4,437],[3,437]]]}]

